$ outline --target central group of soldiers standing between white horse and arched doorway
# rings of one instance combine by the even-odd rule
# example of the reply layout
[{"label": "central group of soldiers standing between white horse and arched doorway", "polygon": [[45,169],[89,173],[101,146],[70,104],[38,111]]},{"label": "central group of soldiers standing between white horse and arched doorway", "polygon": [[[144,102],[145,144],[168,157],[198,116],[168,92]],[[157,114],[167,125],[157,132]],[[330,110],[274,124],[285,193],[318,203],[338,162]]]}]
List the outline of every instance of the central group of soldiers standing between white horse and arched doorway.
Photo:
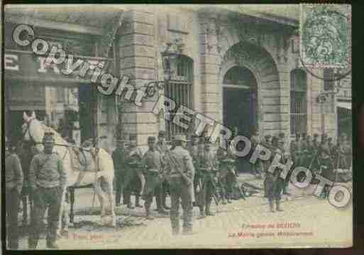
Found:
[{"label": "central group of soldiers standing between white horse and arched doorway", "polygon": [[[112,153],[115,169],[116,206],[120,206],[121,193],[123,204],[133,209],[131,191],[136,195],[135,207],[144,199],[145,217],[153,219],[150,205],[155,197],[157,208],[162,215],[170,214],[172,233],[178,234],[179,205],[184,212],[183,234],[192,233],[192,207],[199,207],[199,219],[211,212],[211,202],[231,203],[233,185],[236,178],[235,160],[231,151],[219,148],[212,150],[208,140],[192,137],[187,146],[184,135],[176,135],[172,148],[167,148],[165,132],[160,131],[157,138],[148,137],[148,151],[142,155],[136,147],[136,135],[131,134],[130,144],[119,139]],[[171,207],[166,204],[170,194]],[[181,201],[180,201],[181,200]],[[170,212],[168,212],[170,210]]]}]

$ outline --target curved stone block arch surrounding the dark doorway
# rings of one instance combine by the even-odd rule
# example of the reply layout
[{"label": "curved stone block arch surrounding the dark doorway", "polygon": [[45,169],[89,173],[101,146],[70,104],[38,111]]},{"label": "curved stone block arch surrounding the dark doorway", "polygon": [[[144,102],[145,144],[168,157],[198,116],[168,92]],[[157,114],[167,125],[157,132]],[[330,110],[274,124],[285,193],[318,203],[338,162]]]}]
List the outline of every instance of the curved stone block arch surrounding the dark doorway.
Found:
[{"label": "curved stone block arch surrounding the dark doorway", "polygon": [[277,134],[280,132],[281,121],[284,117],[280,107],[280,75],[275,60],[265,48],[258,45],[246,42],[234,44],[226,51],[221,60],[219,72],[221,97],[224,75],[234,66],[248,68],[257,81],[258,108],[256,114],[260,133]]}]

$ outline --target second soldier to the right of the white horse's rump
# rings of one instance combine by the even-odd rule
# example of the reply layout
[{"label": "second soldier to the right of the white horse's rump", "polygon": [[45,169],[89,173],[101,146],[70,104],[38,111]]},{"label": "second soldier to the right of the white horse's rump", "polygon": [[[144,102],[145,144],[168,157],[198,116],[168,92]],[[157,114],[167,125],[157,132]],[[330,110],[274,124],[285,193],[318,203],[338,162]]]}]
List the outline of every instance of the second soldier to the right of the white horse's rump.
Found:
[{"label": "second soldier to the right of the white horse's rump", "polygon": [[[143,168],[141,164],[141,160],[143,158],[143,153],[140,151],[140,148],[136,146],[136,134],[130,134],[129,136],[130,146],[128,148],[128,166],[131,169],[130,179],[126,179],[124,187],[128,187],[131,191],[134,191],[136,194],[136,207],[143,207],[140,205],[140,195],[144,190],[145,186],[145,176],[143,174]],[[131,207],[133,209],[133,207]]]}]

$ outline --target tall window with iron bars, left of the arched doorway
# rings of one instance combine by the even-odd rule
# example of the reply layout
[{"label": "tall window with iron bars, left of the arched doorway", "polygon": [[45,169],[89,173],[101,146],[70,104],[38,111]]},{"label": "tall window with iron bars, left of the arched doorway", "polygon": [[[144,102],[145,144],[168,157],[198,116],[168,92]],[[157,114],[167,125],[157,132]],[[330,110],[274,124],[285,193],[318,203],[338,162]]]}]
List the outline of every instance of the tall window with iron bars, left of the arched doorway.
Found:
[{"label": "tall window with iron bars, left of the arched doorway", "polygon": [[176,103],[175,111],[170,112],[170,121],[166,121],[165,131],[167,139],[176,134],[186,133],[187,130],[172,123],[180,105],[192,109],[192,84],[193,84],[193,61],[190,58],[180,56],[171,61],[171,80],[165,85],[165,96]]}]

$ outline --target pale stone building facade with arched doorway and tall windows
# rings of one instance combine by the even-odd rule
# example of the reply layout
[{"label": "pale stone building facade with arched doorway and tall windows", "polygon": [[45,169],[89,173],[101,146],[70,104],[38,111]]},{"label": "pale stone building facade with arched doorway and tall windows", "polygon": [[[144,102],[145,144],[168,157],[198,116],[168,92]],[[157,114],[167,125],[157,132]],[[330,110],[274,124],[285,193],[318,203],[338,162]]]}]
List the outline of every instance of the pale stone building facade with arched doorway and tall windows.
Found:
[{"label": "pale stone building facade with arched doorway and tall windows", "polygon": [[[111,12],[116,16],[120,10]],[[253,129],[291,137],[326,132],[335,140],[340,121],[335,85],[324,81],[323,70],[300,65],[298,19],[222,7],[124,6],[107,57],[115,75],[128,75],[131,85],[140,88],[165,79],[163,53],[178,48],[177,57],[170,59],[168,85],[159,94],[246,135]],[[96,29],[101,32],[94,37],[102,39],[108,22],[107,15],[100,16],[97,26],[84,33]],[[351,88],[350,79],[346,86]],[[325,102],[319,99],[323,94]],[[135,132],[138,144],[146,146],[148,136],[160,130],[168,136],[181,131],[150,112],[158,95],[142,107],[120,103],[114,94],[97,98],[92,115],[102,138],[99,146],[112,150],[118,132],[126,137]]]}]

